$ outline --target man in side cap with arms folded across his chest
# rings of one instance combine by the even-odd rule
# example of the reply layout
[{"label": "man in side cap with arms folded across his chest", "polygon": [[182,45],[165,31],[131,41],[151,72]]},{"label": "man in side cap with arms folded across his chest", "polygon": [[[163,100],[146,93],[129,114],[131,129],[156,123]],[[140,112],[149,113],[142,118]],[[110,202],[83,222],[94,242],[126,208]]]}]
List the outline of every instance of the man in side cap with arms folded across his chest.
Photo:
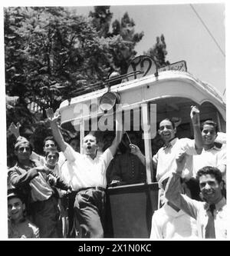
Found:
[{"label": "man in side cap with arms folded across his chest", "polygon": [[[15,144],[16,165],[9,169],[11,185],[20,189],[26,196],[26,207],[32,221],[38,226],[41,238],[62,237],[58,228],[60,216],[58,198],[48,183],[51,171],[38,161],[31,161],[31,145],[26,138],[19,137]],[[58,183],[58,184],[62,184]],[[63,187],[68,189],[67,185]]]}]

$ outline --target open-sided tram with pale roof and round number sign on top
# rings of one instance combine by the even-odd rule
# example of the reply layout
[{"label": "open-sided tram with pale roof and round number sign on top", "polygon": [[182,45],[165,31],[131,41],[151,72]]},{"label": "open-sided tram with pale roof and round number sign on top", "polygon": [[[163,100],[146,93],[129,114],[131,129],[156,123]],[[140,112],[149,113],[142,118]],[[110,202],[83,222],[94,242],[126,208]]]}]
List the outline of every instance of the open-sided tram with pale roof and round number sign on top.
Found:
[{"label": "open-sided tram with pale roof and round number sign on top", "polygon": [[[110,78],[105,85],[63,101],[59,108],[61,126],[80,131],[83,138],[88,122],[110,115],[114,104],[120,103],[123,115],[131,108],[131,118],[128,118],[133,122],[131,126],[134,130],[141,127],[143,134],[146,183],[107,189],[105,233],[109,238],[149,238],[153,211],[158,208],[158,184],[154,181],[152,165],[156,125],[163,118],[175,118],[177,137],[192,138],[190,107],[198,105],[201,121],[212,119],[218,124],[218,130],[225,132],[225,100],[211,85],[190,74],[186,62],[157,69],[148,56],[135,58],[126,75]],[[80,105],[87,106],[89,111],[77,111]],[[140,117],[139,124],[136,117]]]}]

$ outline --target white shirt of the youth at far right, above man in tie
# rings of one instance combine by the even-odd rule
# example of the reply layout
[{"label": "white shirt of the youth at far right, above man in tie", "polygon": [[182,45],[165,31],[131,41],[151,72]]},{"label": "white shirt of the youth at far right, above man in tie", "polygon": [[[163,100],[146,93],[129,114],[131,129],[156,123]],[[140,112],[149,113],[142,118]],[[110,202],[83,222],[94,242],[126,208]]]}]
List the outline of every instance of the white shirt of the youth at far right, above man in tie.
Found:
[{"label": "white shirt of the youth at far right, above man in tie", "polygon": [[[202,149],[201,155],[193,156],[193,176],[197,171],[205,166],[213,166],[218,168],[221,165],[226,165],[226,148],[213,147],[209,150]],[[225,180],[225,176],[223,179]]]}]

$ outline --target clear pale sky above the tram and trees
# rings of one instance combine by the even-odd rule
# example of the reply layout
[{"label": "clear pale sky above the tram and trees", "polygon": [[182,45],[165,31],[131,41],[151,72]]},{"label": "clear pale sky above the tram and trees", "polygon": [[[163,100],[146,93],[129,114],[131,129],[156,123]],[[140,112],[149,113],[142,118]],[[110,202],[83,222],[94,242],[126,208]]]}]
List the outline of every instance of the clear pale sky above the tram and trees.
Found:
[{"label": "clear pale sky above the tram and trees", "polygon": [[[94,8],[90,6],[76,8],[77,14],[83,15],[93,10]],[[192,75],[213,85],[223,96],[225,91],[224,3],[112,5],[110,12],[113,13],[113,20],[120,20],[123,14],[128,12],[136,24],[135,32],[144,32],[142,40],[135,48],[137,55],[147,52],[156,43],[156,37],[163,34],[168,52],[166,60],[170,63],[185,60]],[[207,29],[212,35],[209,35]]]}]

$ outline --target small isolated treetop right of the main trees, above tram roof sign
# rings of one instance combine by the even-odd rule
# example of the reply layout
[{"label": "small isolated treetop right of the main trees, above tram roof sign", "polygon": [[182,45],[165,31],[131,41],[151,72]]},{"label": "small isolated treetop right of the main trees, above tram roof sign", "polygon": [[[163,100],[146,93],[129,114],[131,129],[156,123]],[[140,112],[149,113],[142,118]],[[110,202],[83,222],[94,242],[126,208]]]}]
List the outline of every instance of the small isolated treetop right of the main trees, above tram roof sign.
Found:
[{"label": "small isolated treetop right of the main trees, above tram roof sign", "polygon": [[161,35],[160,38],[156,38],[156,44],[153,45],[153,48],[149,48],[147,52],[144,52],[144,55],[149,55],[153,58],[156,63],[157,68],[164,67],[169,65],[169,61],[166,61],[166,55],[168,52],[166,51],[166,42],[164,35]]}]

